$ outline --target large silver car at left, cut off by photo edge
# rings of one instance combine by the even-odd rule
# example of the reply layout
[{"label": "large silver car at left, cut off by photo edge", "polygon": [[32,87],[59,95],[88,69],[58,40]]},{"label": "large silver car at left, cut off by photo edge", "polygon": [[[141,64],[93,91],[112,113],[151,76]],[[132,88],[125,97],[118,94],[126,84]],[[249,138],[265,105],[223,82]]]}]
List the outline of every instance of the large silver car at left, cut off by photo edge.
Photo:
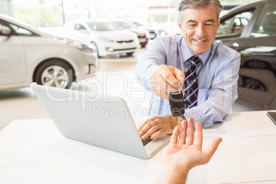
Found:
[{"label": "large silver car at left, cut off by photo edge", "polygon": [[0,90],[32,82],[69,88],[74,80],[95,76],[93,45],[40,32],[0,14]]}]

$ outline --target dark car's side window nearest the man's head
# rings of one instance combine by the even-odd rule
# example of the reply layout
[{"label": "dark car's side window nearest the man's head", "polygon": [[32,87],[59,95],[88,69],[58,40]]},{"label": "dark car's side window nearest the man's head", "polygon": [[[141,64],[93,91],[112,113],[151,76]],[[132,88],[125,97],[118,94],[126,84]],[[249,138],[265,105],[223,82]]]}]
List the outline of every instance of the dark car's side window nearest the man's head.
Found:
[{"label": "dark car's side window nearest the man's head", "polygon": [[235,14],[231,18],[220,23],[218,27],[218,32],[216,36],[223,37],[239,37],[244,30],[244,27],[249,23],[253,15],[254,10],[242,12],[240,14]]}]

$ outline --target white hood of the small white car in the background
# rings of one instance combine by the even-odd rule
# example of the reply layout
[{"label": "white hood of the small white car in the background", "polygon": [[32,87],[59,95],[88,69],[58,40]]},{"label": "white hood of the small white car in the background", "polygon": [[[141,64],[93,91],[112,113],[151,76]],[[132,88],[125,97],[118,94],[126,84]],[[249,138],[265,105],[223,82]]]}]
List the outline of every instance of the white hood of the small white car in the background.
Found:
[{"label": "white hood of the small white car in the background", "polygon": [[116,31],[102,31],[102,32],[93,32],[93,34],[97,34],[101,38],[108,38],[111,40],[116,40],[116,41],[130,41],[133,40],[134,34],[133,32],[130,32],[128,30],[116,30]]}]

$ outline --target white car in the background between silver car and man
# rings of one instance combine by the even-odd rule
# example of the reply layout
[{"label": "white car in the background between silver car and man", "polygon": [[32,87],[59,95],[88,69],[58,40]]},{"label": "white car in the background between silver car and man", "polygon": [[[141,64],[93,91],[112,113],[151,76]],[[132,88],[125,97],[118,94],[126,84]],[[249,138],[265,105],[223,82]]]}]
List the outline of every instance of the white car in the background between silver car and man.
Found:
[{"label": "white car in the background between silver car and man", "polygon": [[71,21],[65,29],[78,30],[97,48],[98,56],[133,54],[139,47],[137,34],[108,21]]}]

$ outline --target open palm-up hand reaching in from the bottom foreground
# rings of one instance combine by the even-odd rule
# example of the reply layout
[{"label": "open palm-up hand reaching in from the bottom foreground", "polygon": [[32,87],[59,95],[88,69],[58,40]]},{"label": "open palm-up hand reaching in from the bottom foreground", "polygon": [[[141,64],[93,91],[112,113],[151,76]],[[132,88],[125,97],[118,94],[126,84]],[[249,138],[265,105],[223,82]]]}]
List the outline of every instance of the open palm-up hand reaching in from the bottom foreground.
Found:
[{"label": "open palm-up hand reaching in from the bottom foreground", "polygon": [[[196,136],[194,139],[194,119],[181,122],[182,131],[179,127],[174,128],[169,146],[163,152],[161,158],[161,172],[157,183],[185,183],[190,169],[197,165],[203,165],[210,161],[218,145],[222,141],[219,137],[209,143],[202,150],[203,131],[199,122],[196,123]],[[178,140],[179,136],[179,140]]]}]

